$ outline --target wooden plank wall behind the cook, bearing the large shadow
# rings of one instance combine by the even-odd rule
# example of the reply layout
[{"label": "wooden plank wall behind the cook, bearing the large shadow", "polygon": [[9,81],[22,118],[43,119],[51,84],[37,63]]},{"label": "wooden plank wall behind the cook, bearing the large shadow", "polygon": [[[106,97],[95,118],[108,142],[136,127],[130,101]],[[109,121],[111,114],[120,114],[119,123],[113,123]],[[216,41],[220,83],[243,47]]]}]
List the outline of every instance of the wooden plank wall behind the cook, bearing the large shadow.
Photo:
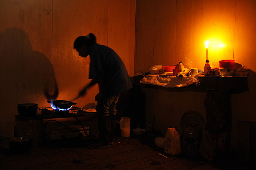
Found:
[{"label": "wooden plank wall behind the cook, bearing the large shadow", "polygon": [[[99,44],[120,55],[132,76],[135,8],[135,0],[0,0],[0,119],[14,121],[18,103],[49,107],[49,98],[78,95],[90,81],[90,58],[73,49],[80,35],[94,33]],[[96,103],[97,93],[97,86],[91,88],[76,106]]]}]

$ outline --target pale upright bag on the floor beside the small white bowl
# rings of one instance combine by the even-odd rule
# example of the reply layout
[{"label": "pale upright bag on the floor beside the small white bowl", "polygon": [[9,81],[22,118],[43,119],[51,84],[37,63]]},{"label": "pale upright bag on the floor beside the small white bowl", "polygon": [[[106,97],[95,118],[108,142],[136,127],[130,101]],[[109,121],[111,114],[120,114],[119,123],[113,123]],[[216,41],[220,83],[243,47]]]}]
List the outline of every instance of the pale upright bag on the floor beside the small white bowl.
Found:
[{"label": "pale upright bag on the floor beside the small white bowl", "polygon": [[173,156],[181,153],[180,133],[173,127],[167,129],[164,149],[165,153]]}]

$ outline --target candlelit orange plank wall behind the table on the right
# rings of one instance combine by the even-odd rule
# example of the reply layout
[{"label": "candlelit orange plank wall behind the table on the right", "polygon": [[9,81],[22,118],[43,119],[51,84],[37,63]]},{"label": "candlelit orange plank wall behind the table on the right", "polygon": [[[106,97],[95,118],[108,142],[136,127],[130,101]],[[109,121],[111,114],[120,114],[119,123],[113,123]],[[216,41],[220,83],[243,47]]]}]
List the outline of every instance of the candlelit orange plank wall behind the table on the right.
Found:
[{"label": "candlelit orange plank wall behind the table on the right", "polygon": [[[237,122],[256,122],[254,110],[256,90],[254,0],[140,0],[136,12],[135,73],[149,71],[153,64],[176,65],[183,61],[186,68],[203,69],[206,60],[204,42],[223,42],[225,48],[209,44],[210,64],[234,59],[249,68],[249,91],[232,97],[232,145],[236,146]],[[179,127],[182,114],[195,110],[206,116],[205,93],[156,92],[144,89],[146,112],[155,114],[155,128]],[[155,99],[162,101],[159,107]],[[157,96],[156,96],[157,95]],[[165,102],[163,102],[165,101]],[[172,105],[172,107],[166,107]],[[152,107],[151,107],[152,106]],[[172,108],[172,110],[170,110]],[[165,112],[165,113],[163,113]],[[164,117],[164,119],[163,119]]]}]

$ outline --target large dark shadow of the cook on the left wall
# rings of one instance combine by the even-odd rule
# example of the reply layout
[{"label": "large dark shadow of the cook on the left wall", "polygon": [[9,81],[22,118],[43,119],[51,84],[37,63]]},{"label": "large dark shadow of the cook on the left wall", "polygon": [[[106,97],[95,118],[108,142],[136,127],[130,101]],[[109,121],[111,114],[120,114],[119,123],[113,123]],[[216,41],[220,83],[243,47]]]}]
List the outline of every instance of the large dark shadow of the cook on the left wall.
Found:
[{"label": "large dark shadow of the cook on the left wall", "polygon": [[48,100],[56,99],[59,90],[53,65],[44,54],[32,49],[27,33],[9,28],[0,33],[0,39],[0,68],[5,80],[0,87],[7,90],[3,95],[11,94],[10,100],[17,95],[15,102],[20,103],[38,103],[45,100],[43,95]]}]

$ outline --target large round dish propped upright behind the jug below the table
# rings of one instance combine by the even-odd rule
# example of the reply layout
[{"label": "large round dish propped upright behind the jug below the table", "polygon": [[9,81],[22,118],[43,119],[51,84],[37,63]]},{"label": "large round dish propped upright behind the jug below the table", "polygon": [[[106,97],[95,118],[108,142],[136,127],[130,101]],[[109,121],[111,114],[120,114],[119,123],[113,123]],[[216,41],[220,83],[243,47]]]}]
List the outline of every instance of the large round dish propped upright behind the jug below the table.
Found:
[{"label": "large round dish propped upright behind the jug below the table", "polygon": [[180,127],[184,131],[189,124],[196,125],[197,130],[202,131],[205,125],[204,118],[201,114],[195,111],[188,111],[183,114],[180,120]]}]

